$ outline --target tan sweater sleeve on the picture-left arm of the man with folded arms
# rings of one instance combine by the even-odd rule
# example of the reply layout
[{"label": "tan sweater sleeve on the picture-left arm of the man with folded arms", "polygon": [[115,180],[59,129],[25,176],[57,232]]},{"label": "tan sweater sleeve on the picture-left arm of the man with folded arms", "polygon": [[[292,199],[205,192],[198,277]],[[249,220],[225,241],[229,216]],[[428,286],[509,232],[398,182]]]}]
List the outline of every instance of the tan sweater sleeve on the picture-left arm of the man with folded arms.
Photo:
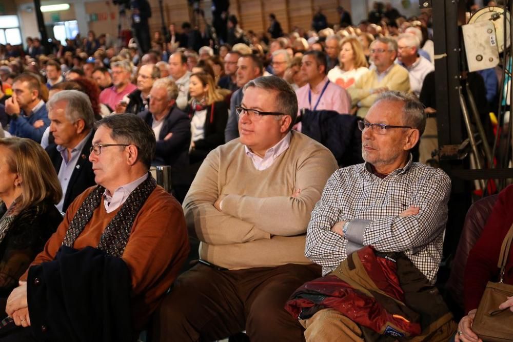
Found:
[{"label": "tan sweater sleeve on the picture-left arm of the man with folded arms", "polygon": [[219,152],[214,150],[204,160],[184,200],[183,208],[189,234],[213,245],[270,238],[269,233],[255,228],[254,224],[222,213],[214,207],[220,195],[218,173]]}]

